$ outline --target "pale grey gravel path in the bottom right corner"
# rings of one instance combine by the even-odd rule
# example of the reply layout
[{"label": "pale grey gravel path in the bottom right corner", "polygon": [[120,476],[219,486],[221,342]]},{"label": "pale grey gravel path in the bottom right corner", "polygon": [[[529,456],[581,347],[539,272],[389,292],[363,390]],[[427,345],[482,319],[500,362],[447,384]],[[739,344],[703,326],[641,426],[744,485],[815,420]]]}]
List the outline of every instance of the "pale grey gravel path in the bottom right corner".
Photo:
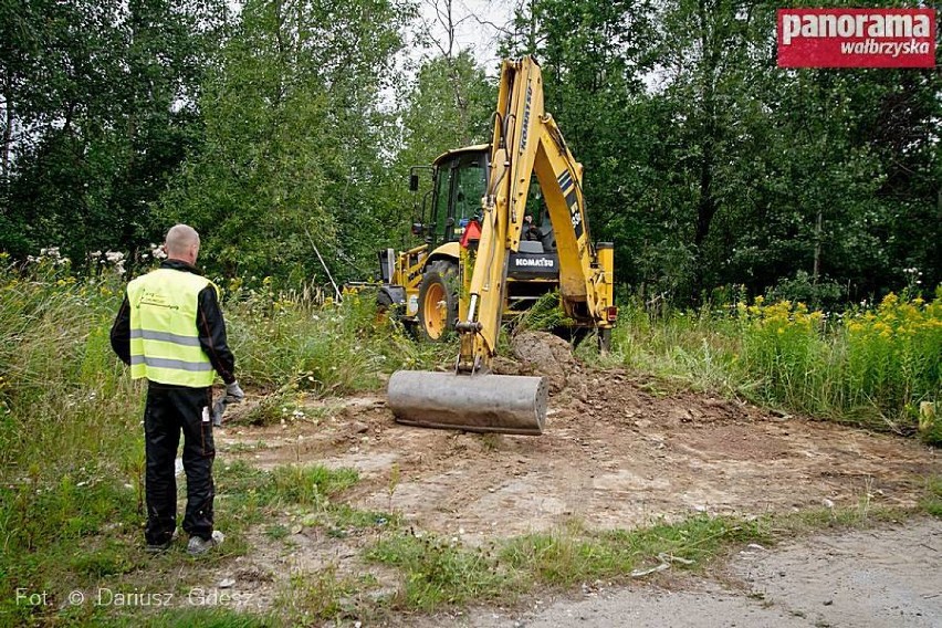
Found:
[{"label": "pale grey gravel path in the bottom right corner", "polygon": [[[724,584],[689,579],[421,619],[416,628],[932,628],[942,626],[942,522],[820,535],[732,558]],[[679,588],[679,590],[678,590]]]}]

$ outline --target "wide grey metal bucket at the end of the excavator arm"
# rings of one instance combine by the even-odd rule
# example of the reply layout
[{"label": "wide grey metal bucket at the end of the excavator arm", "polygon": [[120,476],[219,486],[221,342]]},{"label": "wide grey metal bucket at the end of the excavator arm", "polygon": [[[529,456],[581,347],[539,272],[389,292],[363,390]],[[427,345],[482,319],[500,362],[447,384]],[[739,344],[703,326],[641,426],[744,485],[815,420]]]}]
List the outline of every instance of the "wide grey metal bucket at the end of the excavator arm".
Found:
[{"label": "wide grey metal bucket at the end of the excavator arm", "polygon": [[397,370],[388,405],[407,426],[475,432],[543,433],[548,390],[544,377],[454,375]]}]

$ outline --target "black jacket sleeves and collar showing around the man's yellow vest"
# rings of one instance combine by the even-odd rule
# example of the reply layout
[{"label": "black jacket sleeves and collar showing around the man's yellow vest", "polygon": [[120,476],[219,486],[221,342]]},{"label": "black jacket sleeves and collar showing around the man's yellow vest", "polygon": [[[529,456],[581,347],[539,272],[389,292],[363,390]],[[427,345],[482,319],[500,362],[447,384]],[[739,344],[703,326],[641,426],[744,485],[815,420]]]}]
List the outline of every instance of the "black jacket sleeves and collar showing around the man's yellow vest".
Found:
[{"label": "black jacket sleeves and collar showing around the man's yellow vest", "polygon": [[[202,274],[193,266],[181,260],[165,260],[161,269]],[[212,367],[226,384],[236,381],[236,357],[229,350],[226,341],[226,322],[222,320],[222,310],[219,308],[219,300],[216,289],[207,285],[197,295],[197,334],[202,350],[209,356]],[[130,304],[127,301],[127,292],[124,301],[112,325],[112,348],[125,364],[130,364]]]}]

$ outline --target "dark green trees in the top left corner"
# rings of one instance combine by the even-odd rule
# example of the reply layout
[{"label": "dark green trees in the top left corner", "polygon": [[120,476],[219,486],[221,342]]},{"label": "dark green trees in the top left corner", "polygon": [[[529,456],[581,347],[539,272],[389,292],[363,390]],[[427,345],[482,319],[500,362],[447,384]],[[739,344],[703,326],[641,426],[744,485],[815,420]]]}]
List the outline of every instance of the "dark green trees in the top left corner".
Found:
[{"label": "dark green trees in the top left corner", "polygon": [[3,3],[0,245],[134,249],[199,139],[192,98],[224,2]]}]

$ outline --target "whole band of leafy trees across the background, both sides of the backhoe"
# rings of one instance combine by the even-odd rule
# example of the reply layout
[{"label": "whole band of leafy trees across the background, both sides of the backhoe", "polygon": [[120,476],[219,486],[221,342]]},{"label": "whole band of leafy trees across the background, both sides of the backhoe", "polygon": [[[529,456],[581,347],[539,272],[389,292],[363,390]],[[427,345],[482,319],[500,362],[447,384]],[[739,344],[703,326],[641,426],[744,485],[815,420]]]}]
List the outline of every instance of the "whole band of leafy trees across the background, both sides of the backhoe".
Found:
[{"label": "whole band of leafy trees across the background, both sides of the backhoe", "polygon": [[[642,297],[936,285],[942,75],[778,69],[777,8],[533,0],[501,46],[540,59],[593,237]],[[0,248],[136,259],[179,220],[227,278],[369,278],[411,243],[408,169],[490,135],[489,69],[451,34],[407,51],[420,22],[410,0],[3,3]]]}]

